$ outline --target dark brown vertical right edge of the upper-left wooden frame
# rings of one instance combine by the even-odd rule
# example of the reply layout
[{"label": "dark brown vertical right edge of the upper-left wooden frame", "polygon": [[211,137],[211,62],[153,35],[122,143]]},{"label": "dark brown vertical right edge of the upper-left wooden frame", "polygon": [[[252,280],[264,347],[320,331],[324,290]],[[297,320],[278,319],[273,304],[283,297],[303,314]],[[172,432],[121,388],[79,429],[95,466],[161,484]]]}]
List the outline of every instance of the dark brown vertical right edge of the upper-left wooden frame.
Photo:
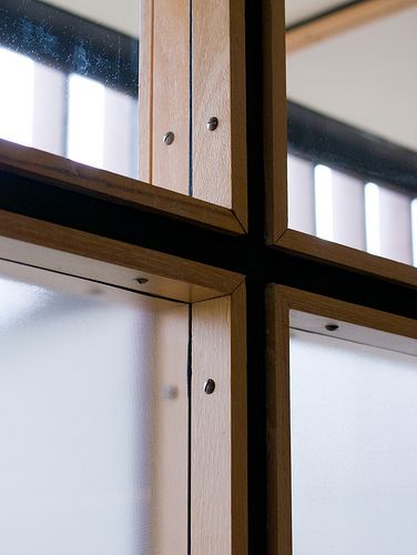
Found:
[{"label": "dark brown vertical right edge of the upper-left wooden frame", "polygon": [[232,209],[247,233],[245,2],[230,0]]}]

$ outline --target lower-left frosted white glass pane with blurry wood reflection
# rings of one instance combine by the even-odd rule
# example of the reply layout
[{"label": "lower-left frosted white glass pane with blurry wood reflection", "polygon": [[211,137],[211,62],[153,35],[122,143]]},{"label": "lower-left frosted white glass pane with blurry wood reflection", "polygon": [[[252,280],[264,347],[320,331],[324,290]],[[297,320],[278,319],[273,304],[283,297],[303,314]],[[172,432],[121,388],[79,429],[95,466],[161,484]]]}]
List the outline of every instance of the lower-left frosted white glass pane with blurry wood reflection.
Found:
[{"label": "lower-left frosted white glass pane with blurry wood reflection", "polygon": [[1,551],[184,555],[187,307],[59,280],[0,279]]}]

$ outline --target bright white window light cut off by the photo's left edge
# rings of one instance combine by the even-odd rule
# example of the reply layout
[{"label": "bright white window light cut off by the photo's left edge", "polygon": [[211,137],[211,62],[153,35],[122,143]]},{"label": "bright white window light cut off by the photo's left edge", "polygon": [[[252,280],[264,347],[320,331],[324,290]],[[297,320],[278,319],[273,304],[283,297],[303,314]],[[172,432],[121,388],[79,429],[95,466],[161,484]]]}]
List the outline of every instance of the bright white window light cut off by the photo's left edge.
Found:
[{"label": "bright white window light cut off by the photo's left edge", "polygon": [[34,62],[0,48],[0,138],[32,145]]}]

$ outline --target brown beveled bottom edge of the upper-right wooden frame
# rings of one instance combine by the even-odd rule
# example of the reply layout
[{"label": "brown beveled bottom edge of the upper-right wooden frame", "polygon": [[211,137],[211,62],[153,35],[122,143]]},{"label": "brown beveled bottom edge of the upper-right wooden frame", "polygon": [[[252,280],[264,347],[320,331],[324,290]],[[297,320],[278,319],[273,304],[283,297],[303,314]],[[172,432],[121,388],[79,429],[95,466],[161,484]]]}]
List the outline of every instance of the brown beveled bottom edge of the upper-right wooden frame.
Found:
[{"label": "brown beveled bottom edge of the upper-right wooden frame", "polygon": [[276,241],[275,246],[337,266],[357,270],[364,274],[383,278],[394,283],[417,286],[417,269],[414,266],[325,241],[299,231],[286,230]]}]

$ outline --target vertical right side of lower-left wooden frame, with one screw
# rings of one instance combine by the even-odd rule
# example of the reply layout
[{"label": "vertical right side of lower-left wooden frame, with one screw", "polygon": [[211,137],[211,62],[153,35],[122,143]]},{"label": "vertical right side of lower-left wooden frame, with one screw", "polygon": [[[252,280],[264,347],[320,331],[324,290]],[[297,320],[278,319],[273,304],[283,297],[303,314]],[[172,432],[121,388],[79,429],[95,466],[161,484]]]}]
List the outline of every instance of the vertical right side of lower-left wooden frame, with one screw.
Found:
[{"label": "vertical right side of lower-left wooden frame, with one screw", "polygon": [[199,555],[247,554],[245,342],[243,285],[193,305],[191,552]]}]

